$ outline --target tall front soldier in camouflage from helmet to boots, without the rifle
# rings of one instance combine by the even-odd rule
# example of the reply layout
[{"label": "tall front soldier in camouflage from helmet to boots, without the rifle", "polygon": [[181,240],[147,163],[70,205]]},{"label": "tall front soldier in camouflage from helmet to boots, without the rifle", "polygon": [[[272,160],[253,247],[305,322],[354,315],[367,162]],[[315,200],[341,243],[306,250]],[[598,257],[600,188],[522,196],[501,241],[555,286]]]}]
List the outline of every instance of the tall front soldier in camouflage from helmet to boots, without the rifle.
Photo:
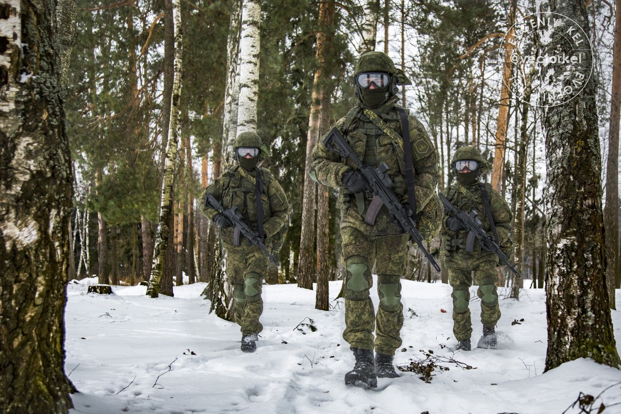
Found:
[{"label": "tall front soldier in camouflage from helmet to boots, without the rifle", "polygon": [[[397,105],[397,85],[410,82],[386,54],[367,52],[356,63],[354,83],[358,105],[337,121],[335,128],[364,165],[376,168],[386,163],[391,190],[411,209],[410,217],[415,211],[418,231],[430,241],[439,231],[443,216],[435,193],[437,154],[422,124]],[[404,143],[407,132],[411,145]],[[409,235],[394,223],[386,206],[373,203],[374,195],[356,164],[332,152],[324,145],[325,139],[327,136],[312,152],[311,177],[337,188],[339,193],[342,263],[347,270],[343,338],[356,359],[353,370],[345,374],[345,384],[373,388],[377,387],[377,377],[399,376],[392,358],[401,346],[401,277],[406,268]],[[406,157],[404,148],[410,148],[412,157]],[[414,180],[406,179],[409,163],[413,163],[409,168],[414,172],[409,177]],[[376,214],[368,214],[379,206]],[[373,270],[378,275],[377,315],[369,297]]]}]

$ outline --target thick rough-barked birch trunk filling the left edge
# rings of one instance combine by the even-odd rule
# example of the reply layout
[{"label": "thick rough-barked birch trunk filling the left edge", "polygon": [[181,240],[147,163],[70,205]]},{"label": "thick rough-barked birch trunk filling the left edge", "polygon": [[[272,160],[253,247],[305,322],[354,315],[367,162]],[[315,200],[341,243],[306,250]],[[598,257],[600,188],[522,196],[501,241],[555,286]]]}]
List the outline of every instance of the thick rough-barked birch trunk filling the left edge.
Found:
[{"label": "thick rough-barked birch trunk filling the left edge", "polygon": [[73,170],[62,68],[71,42],[56,32],[67,5],[0,3],[3,413],[66,413],[75,391],[64,371],[63,321]]}]

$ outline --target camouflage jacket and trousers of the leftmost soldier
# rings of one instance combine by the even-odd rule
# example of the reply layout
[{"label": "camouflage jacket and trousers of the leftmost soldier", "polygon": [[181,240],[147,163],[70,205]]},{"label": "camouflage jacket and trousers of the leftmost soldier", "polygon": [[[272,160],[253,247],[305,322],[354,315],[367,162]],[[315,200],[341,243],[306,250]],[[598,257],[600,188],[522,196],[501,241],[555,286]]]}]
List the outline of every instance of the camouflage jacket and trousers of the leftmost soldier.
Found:
[{"label": "camouflage jacket and trousers of the leftmost soldier", "polygon": [[[260,172],[263,181],[261,205],[265,245],[273,253],[278,253],[286,232],[289,204],[283,187],[271,175],[270,170],[260,168]],[[255,182],[254,172],[248,172],[240,165],[233,165],[206,188],[203,200],[209,193],[219,200],[224,208],[238,206],[243,221],[258,231]],[[215,214],[218,214],[217,210],[207,208],[204,203],[201,205],[201,212],[209,220],[213,220]],[[226,251],[226,273],[233,285],[235,321],[240,325],[242,334],[260,333],[263,329],[259,322],[263,312],[261,284],[265,279],[269,259],[259,247],[250,244],[246,237],[240,237],[241,246],[233,246],[231,227],[220,229],[220,238]]]}]

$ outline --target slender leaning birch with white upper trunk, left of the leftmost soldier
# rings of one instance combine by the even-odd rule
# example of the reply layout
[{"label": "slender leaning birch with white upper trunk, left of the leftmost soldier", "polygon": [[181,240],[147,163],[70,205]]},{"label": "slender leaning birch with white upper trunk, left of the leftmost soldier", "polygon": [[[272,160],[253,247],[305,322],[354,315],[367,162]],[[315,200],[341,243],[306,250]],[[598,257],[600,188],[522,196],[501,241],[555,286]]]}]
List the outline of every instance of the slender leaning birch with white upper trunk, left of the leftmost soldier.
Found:
[{"label": "slender leaning birch with white upper trunk, left of the leftmost soldier", "polygon": [[173,0],[173,30],[175,32],[175,60],[173,75],[173,96],[171,99],[170,123],[168,124],[168,142],[166,142],[166,159],[164,160],[164,178],[161,183],[160,220],[155,234],[153,266],[147,287],[147,295],[156,298],[160,293],[160,283],[165,260],[166,247],[170,240],[170,223],[173,214],[173,179],[175,178],[175,157],[179,142],[179,102],[181,101],[182,35],[181,2]]}]

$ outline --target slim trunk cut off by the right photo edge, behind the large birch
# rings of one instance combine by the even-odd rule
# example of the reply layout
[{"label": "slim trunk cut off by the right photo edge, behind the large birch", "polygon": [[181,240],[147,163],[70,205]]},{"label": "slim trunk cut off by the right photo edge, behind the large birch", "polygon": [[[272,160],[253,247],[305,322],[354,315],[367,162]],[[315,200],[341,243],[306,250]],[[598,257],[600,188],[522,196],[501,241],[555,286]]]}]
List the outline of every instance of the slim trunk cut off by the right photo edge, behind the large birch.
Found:
[{"label": "slim trunk cut off by the right photo edge, behind the large birch", "polygon": [[606,285],[610,308],[617,309],[615,287],[620,286],[619,270],[619,111],[621,102],[621,5],[615,11],[615,40],[612,52],[612,93],[608,127],[608,160],[606,167]]}]

